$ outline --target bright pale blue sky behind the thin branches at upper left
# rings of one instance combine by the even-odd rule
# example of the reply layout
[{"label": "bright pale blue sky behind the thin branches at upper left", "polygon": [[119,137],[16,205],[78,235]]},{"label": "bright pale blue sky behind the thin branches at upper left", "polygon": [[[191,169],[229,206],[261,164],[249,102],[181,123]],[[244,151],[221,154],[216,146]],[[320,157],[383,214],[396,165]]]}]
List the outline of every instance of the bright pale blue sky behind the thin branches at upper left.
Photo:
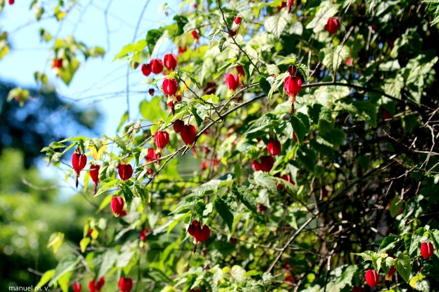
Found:
[{"label": "bright pale blue sky behind the thin branches at upper left", "polygon": [[[11,52],[0,60],[0,79],[14,82],[21,87],[35,87],[33,73],[43,71],[63,96],[77,99],[99,95],[101,97],[76,102],[75,105],[95,106],[104,115],[98,132],[114,134],[119,118],[127,109],[127,103],[125,94],[114,96],[112,93],[126,90],[127,67],[126,62],[120,60],[112,62],[112,59],[119,50],[132,42],[139,15],[146,2],[135,0],[111,2],[108,10],[109,50],[104,17],[107,0],[79,1],[79,5],[75,6],[63,20],[61,29],[59,29],[60,23],[56,22],[54,17],[35,22],[34,12],[29,10],[30,2],[17,0],[12,6],[6,4],[0,14],[0,26],[3,27],[2,30],[10,32],[11,45]],[[50,12],[53,11],[57,1],[43,1],[43,3],[46,11]],[[66,1],[66,4],[68,3]],[[168,17],[163,10],[158,11],[164,3],[168,3],[172,8]],[[178,10],[180,4],[180,0],[151,0],[141,20],[136,40],[144,38],[149,29],[170,23],[174,16],[172,11]],[[39,40],[40,28],[46,29],[52,35],[59,33],[60,38],[73,34],[77,41],[83,41],[87,46],[101,46],[108,51],[104,58],[91,58],[83,62],[67,87],[51,72],[50,59],[53,57],[53,52],[49,49],[52,44],[42,43]],[[139,69],[131,71],[130,91],[143,91],[149,88],[139,84],[143,79]],[[145,94],[130,94],[131,120],[139,118],[138,103],[145,97]]]}]

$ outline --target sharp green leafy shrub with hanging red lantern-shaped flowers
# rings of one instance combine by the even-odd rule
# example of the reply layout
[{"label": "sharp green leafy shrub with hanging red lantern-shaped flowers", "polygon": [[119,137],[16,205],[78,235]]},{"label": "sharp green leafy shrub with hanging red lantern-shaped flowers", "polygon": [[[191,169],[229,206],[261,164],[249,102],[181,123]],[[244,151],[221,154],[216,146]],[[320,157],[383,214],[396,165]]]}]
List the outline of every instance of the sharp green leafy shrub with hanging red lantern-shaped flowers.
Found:
[{"label": "sharp green leafy shrub with hanging red lantern-shaped flowers", "polygon": [[[114,58],[147,76],[143,119],[121,112],[117,135],[43,149],[67,183],[104,198],[37,285],[436,289],[437,4],[185,0],[163,10],[172,24]],[[54,52],[66,84],[77,52],[104,53],[74,38]],[[184,156],[200,169],[182,176]],[[56,253],[63,238],[48,246]]]}]

